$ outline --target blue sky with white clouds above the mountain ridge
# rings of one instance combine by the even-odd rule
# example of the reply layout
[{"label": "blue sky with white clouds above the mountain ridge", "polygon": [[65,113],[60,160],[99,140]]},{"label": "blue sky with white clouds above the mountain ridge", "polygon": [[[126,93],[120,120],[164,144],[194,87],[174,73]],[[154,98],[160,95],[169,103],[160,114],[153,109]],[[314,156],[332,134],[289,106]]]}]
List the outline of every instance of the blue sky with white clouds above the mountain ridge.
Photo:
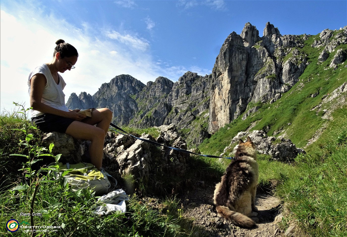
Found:
[{"label": "blue sky with white clouds above the mountain ridge", "polygon": [[282,35],[319,34],[347,25],[347,1],[0,1],[0,111],[29,107],[27,76],[51,61],[62,38],[79,53],[62,74],[72,92],[93,95],[129,74],[147,83],[187,71],[210,74],[227,36],[250,22]]}]

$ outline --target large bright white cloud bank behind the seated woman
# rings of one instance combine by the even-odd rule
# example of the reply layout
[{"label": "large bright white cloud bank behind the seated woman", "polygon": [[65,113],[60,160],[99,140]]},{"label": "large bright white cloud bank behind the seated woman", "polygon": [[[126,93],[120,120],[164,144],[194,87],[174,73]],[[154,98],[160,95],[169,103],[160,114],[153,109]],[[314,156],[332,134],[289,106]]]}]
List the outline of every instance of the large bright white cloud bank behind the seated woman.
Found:
[{"label": "large bright white cloud bank behind the seated woman", "polygon": [[62,74],[67,83],[65,101],[73,92],[93,95],[102,83],[120,74],[132,75],[146,84],[158,76],[176,81],[187,71],[209,73],[199,67],[153,60],[149,41],[137,34],[103,31],[88,22],[76,26],[37,6],[36,1],[35,6],[30,1],[26,5],[13,2],[10,10],[1,6],[0,13],[0,112],[13,110],[12,101],[29,107],[28,74],[52,60],[55,42],[60,38],[79,53],[76,69]]}]

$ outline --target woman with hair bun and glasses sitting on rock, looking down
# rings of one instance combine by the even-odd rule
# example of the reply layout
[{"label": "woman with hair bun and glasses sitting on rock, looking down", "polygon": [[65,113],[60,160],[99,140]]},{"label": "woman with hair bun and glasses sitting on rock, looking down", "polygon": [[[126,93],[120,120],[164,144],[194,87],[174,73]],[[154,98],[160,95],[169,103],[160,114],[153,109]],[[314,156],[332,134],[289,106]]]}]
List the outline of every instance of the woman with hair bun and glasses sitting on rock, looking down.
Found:
[{"label": "woman with hair bun and glasses sitting on rock, looking down", "polygon": [[74,46],[62,39],[57,40],[56,45],[52,61],[36,67],[29,74],[32,122],[44,133],[57,131],[76,139],[90,140],[90,162],[100,169],[112,112],[107,108],[96,109],[92,111],[92,117],[86,117],[79,114],[78,109],[69,110],[65,106],[63,89],[66,83],[58,72],[74,69],[78,53]]}]

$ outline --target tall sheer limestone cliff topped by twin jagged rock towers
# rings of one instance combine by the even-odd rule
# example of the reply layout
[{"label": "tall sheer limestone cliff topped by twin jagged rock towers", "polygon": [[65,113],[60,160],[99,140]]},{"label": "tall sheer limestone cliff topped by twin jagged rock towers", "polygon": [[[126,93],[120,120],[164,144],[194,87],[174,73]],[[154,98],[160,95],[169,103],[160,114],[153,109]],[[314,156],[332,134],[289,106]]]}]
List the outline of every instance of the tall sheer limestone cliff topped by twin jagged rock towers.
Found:
[{"label": "tall sheer limestone cliff topped by twin jagged rock towers", "polygon": [[212,71],[210,131],[236,119],[249,102],[276,101],[298,82],[307,56],[300,48],[307,38],[282,36],[270,22],[263,37],[250,23],[241,35],[231,33]]}]

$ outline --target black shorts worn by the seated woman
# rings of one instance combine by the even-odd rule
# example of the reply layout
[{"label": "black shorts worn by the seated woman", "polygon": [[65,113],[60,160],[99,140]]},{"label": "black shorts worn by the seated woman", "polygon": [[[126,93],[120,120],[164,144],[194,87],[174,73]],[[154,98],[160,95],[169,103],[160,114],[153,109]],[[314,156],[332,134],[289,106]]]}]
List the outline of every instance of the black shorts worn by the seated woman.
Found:
[{"label": "black shorts worn by the seated woman", "polygon": [[65,133],[67,127],[73,122],[77,121],[75,119],[65,118],[58,115],[52,115],[50,113],[45,113],[43,115],[31,118],[31,122],[43,131],[44,133],[50,133],[53,131]]}]

